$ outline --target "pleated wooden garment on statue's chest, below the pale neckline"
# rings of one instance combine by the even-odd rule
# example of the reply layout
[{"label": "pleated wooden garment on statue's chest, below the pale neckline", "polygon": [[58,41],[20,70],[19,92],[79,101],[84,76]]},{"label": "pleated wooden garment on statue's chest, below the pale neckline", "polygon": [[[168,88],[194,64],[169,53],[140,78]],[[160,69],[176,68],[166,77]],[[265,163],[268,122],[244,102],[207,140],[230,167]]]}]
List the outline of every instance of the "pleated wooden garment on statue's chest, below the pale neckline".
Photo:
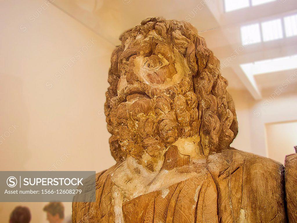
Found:
[{"label": "pleated wooden garment on statue's chest, below the pale neckline", "polygon": [[125,223],[218,222],[217,189],[212,178],[190,178],[123,204]]}]

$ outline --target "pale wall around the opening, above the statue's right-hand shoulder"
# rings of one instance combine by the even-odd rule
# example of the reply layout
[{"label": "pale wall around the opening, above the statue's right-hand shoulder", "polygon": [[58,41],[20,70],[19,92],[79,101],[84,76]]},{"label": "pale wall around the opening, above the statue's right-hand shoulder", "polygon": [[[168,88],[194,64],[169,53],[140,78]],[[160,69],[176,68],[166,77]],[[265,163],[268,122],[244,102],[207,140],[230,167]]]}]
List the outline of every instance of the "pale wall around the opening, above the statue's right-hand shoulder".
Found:
[{"label": "pale wall around the opening, above the statue's right-hand shoulder", "polygon": [[[231,90],[230,94],[235,103],[239,129],[231,146],[267,157],[268,143],[271,142],[266,139],[265,126],[269,123],[296,121],[297,95],[279,95],[274,98],[268,96],[255,101],[246,91]],[[295,132],[295,129],[288,131]],[[297,140],[297,135],[295,137]]]}]

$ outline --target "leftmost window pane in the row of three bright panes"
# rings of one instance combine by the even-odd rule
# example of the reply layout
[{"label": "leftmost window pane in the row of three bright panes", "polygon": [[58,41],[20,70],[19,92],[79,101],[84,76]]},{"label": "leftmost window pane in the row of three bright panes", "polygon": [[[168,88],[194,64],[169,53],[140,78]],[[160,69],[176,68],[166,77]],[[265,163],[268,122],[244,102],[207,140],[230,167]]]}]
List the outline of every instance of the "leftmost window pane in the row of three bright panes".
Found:
[{"label": "leftmost window pane in the row of three bright panes", "polygon": [[260,26],[259,23],[241,26],[241,42],[248,41],[249,44],[261,42]]}]

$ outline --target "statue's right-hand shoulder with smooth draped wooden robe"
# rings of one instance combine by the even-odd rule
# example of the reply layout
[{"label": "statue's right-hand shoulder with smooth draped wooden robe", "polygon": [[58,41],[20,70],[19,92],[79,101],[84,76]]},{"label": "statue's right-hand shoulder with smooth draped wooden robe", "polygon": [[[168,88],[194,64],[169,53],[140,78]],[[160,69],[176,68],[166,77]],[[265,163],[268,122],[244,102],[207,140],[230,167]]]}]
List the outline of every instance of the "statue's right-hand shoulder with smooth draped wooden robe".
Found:
[{"label": "statue's right-hand shoulder with smooth draped wooden robe", "polygon": [[209,156],[207,165],[217,185],[222,218],[285,222],[282,164],[231,148]]}]

